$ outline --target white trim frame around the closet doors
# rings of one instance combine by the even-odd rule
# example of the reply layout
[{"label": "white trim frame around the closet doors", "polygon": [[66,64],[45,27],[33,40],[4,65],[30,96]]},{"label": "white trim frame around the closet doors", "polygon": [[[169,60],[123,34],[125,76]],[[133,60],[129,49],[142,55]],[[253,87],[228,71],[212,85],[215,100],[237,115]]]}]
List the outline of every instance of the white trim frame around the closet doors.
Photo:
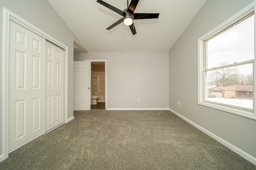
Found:
[{"label": "white trim frame around the closet doors", "polygon": [[68,46],[64,45],[57,39],[53,38],[52,36],[48,35],[44,31],[38,29],[31,23],[27,22],[26,20],[20,18],[18,15],[14,14],[10,10],[4,8],[4,29],[3,29],[3,51],[2,51],[2,155],[0,155],[0,162],[6,158],[8,158],[8,69],[9,69],[9,22],[10,20],[22,25],[26,29],[40,35],[44,39],[50,41],[51,43],[61,47],[64,49],[64,103],[63,103],[63,121],[64,123],[68,122]]}]

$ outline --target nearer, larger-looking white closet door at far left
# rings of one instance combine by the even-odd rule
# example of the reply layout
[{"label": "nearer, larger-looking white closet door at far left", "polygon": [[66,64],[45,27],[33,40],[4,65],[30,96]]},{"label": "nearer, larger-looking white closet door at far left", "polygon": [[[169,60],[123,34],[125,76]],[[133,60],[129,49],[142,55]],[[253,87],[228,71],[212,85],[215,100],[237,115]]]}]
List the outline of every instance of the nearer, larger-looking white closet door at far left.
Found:
[{"label": "nearer, larger-looking white closet door at far left", "polygon": [[45,39],[10,20],[9,153],[44,134]]}]

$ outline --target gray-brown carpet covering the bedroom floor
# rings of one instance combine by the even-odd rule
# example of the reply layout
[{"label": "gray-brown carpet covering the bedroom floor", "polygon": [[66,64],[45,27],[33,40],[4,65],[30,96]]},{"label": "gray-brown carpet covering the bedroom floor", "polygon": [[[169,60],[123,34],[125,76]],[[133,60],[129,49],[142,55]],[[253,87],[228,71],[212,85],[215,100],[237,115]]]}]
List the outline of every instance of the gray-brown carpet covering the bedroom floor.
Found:
[{"label": "gray-brown carpet covering the bedroom floor", "polygon": [[170,111],[75,111],[0,162],[16,170],[255,170]]}]

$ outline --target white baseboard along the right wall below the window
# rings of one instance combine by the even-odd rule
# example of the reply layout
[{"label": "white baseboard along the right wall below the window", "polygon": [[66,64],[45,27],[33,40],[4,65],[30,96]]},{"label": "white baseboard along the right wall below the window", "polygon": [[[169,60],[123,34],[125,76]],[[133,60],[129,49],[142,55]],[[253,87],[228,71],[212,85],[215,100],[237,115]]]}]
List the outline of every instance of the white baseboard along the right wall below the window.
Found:
[{"label": "white baseboard along the right wall below the window", "polygon": [[211,133],[210,131],[204,129],[203,127],[199,126],[198,124],[194,123],[193,121],[190,121],[189,119],[187,119],[186,117],[180,115],[179,113],[177,113],[176,111],[169,109],[172,113],[176,114],[178,117],[184,119],[186,122],[190,123],[191,125],[193,125],[194,127],[196,127],[197,129],[199,129],[200,131],[206,133],[206,135],[212,137],[213,139],[215,139],[216,141],[218,141],[219,143],[221,143],[222,145],[224,145],[225,147],[227,147],[228,149],[236,152],[237,154],[239,154],[240,156],[242,156],[243,158],[245,158],[246,160],[252,162],[254,165],[256,165],[256,158],[254,158],[253,156],[251,156],[250,154],[244,152],[243,150],[239,149],[238,147],[232,145],[231,143],[228,143],[227,141],[225,141],[224,139],[218,137],[217,135]]}]

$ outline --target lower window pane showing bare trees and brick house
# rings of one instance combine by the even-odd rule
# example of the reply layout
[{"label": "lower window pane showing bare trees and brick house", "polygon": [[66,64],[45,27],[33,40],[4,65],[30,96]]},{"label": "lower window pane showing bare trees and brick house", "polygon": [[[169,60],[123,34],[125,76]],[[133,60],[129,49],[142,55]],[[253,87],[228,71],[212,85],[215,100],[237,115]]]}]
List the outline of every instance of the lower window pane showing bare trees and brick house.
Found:
[{"label": "lower window pane showing bare trees and brick house", "polygon": [[252,63],[207,71],[205,100],[253,109],[252,75]]}]

